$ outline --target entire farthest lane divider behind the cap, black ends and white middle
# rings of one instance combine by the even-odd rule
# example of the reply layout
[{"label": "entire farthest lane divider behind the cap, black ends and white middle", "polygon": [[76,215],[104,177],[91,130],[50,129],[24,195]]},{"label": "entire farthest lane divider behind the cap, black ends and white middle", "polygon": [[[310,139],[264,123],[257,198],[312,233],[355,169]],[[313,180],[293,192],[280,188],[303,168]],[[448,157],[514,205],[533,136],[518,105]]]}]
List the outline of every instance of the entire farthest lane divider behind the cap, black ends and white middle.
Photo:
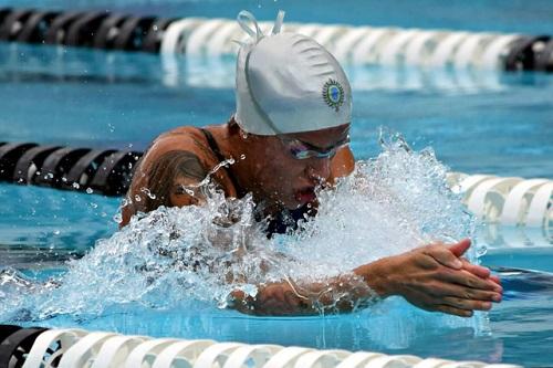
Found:
[{"label": "entire farthest lane divider behind the cap, black ends and white middle", "polygon": [[[260,22],[270,32],[272,22]],[[353,64],[418,65],[553,72],[551,35],[284,23]],[[244,41],[234,20],[136,17],[108,11],[0,9],[0,41],[142,51],[190,56],[234,56]]]}]

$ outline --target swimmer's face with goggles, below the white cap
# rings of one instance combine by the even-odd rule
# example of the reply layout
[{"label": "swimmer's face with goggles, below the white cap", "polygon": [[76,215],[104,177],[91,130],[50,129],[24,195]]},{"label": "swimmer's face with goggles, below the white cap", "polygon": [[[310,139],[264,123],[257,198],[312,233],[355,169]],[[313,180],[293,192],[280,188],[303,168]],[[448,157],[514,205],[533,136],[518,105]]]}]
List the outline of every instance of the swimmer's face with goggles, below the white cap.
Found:
[{"label": "swimmer's face with goggles, below the white cap", "polygon": [[315,188],[332,179],[331,162],[347,145],[349,125],[279,137],[257,137],[254,193],[295,209],[315,201]]}]

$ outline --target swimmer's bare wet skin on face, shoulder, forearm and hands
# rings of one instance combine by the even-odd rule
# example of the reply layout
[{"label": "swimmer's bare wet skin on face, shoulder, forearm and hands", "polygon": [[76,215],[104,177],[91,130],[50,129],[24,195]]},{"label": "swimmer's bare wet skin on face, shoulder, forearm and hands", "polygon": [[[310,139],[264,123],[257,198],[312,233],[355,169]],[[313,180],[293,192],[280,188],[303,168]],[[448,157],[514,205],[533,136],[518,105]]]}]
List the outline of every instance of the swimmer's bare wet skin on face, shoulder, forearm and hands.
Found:
[{"label": "swimmer's bare wet skin on face, shoulder, forearm and hands", "polygon": [[[312,202],[316,206],[314,188],[319,185],[332,186],[336,178],[349,175],[354,169],[354,157],[347,146],[342,147],[333,157],[296,159],[285,144],[275,136],[244,134],[238,125],[228,124],[208,127],[225,157],[233,158],[229,167],[237,179],[236,188],[228,171],[213,174],[227,197],[238,197],[239,192],[252,192],[254,200],[265,204],[267,214],[282,208],[295,209]],[[349,133],[348,125],[317,130],[284,135],[284,138],[299,139],[321,151],[340,145]],[[140,188],[152,178],[152,167],[165,153],[186,150],[197,155],[207,169],[213,168],[219,160],[209,149],[205,136],[192,127],[181,127],[158,137],[144,156],[129,189],[127,199],[144,197]],[[170,206],[201,204],[199,193],[182,191],[182,186],[197,183],[197,179],[176,175],[169,186]],[[163,193],[155,193],[163,196]],[[123,208],[123,223],[140,208],[142,201],[129,201]],[[328,277],[317,284],[301,281],[283,281],[259,286],[253,297],[237,291],[232,293],[233,307],[238,311],[258,315],[314,314],[327,305],[332,312],[347,312],[363,301],[368,301],[376,292],[380,297],[400,295],[409,303],[426,311],[442,312],[469,317],[473,311],[488,311],[492,303],[502,297],[502,287],[497,276],[490,275],[486,267],[470,264],[462,257],[470,241],[456,244],[430,244],[373,263],[361,264],[348,275]],[[359,286],[359,282],[364,286]],[[345,290],[348,299],[335,303],[325,298],[327,290]],[[337,311],[336,311],[337,309]]]}]

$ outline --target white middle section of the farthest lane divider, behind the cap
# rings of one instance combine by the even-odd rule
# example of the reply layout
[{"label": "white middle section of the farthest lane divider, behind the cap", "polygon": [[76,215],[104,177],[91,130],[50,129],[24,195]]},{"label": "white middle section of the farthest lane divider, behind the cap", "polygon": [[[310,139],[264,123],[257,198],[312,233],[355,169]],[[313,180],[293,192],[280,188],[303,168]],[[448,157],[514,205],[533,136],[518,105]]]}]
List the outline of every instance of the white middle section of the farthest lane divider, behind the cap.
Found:
[{"label": "white middle section of the farthest lane divider, behind the cap", "polygon": [[[268,22],[260,22],[267,31]],[[430,65],[499,69],[521,34],[286,23],[285,31],[312,36],[336,59],[354,64]],[[237,23],[227,19],[189,18],[171,23],[160,52],[190,56],[234,55]],[[432,41],[432,42],[428,42]],[[424,52],[422,52],[424,51]],[[421,57],[424,54],[424,57]]]}]

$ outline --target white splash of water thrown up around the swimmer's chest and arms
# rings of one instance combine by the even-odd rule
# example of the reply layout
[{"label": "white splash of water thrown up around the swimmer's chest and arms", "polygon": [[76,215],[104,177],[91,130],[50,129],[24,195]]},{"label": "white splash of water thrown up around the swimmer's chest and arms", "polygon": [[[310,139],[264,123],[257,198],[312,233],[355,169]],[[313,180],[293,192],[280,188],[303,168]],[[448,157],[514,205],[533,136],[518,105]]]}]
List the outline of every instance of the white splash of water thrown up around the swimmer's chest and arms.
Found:
[{"label": "white splash of water thrown up around the swimmer's chest and arms", "polygon": [[268,281],[335,276],[424,243],[471,236],[474,220],[434,153],[411,151],[389,134],[380,144],[377,158],[317,193],[317,215],[299,231],[268,240],[251,197],[226,199],[210,188],[205,206],[138,214],[45,286],[15,293],[0,285],[11,297],[0,317],[97,316],[113,305],[170,308],[187,299],[225,306],[237,288],[254,294]]}]

